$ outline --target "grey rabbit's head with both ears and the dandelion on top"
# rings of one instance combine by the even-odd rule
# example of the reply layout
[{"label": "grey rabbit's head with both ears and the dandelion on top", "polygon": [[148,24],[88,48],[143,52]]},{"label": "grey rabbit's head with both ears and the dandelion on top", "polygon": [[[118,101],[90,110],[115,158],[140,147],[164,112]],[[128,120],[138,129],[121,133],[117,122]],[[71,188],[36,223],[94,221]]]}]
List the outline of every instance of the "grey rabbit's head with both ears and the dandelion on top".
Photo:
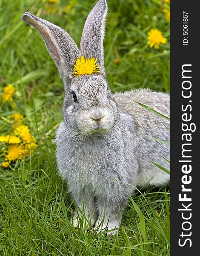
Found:
[{"label": "grey rabbit's head with both ears and the dandelion on top", "polygon": [[117,116],[104,68],[106,13],[106,0],[99,0],[84,25],[80,50],[64,29],[29,12],[22,15],[40,32],[63,80],[64,121],[84,134],[111,129]]}]

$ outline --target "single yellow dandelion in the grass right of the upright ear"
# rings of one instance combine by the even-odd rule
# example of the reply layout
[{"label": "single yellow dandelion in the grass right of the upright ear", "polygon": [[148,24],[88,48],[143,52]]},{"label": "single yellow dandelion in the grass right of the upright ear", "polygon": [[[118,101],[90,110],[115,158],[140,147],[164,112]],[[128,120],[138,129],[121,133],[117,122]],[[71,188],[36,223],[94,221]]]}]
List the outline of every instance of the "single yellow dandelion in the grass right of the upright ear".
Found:
[{"label": "single yellow dandelion in the grass right of the upright ear", "polygon": [[149,47],[154,47],[154,49],[159,49],[160,44],[166,44],[167,42],[167,38],[164,38],[162,32],[158,29],[151,29],[148,32],[147,40]]}]

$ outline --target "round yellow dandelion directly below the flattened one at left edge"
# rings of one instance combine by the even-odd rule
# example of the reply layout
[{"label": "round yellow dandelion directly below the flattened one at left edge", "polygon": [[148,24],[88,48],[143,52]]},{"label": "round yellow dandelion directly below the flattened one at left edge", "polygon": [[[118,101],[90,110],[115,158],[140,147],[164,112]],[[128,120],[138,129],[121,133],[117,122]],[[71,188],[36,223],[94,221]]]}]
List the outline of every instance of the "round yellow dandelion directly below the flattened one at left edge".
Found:
[{"label": "round yellow dandelion directly below the flattened one at left edge", "polygon": [[17,159],[22,160],[23,159],[23,148],[21,145],[10,145],[9,149],[4,151],[5,153],[5,161],[15,161]]}]

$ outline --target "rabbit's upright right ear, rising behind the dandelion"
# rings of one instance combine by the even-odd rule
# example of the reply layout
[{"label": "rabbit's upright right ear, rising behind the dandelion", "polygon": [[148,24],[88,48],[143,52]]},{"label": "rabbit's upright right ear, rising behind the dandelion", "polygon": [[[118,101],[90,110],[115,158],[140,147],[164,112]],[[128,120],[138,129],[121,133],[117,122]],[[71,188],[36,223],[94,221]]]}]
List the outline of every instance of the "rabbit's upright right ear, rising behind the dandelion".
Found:
[{"label": "rabbit's upright right ear, rising behind the dandelion", "polygon": [[86,58],[94,57],[100,66],[100,73],[105,76],[103,38],[105,34],[105,19],[107,13],[106,0],[99,0],[89,13],[83,28],[80,41],[80,51]]}]

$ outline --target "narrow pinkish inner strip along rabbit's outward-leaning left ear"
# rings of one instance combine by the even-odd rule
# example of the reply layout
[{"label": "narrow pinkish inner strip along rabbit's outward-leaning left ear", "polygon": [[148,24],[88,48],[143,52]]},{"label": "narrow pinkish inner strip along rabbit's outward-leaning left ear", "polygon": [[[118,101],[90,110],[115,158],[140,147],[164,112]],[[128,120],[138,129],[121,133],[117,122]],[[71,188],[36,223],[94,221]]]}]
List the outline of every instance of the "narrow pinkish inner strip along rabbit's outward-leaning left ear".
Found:
[{"label": "narrow pinkish inner strip along rabbit's outward-leaning left ear", "polygon": [[57,48],[55,47],[54,43],[51,41],[51,38],[49,34],[46,32],[46,30],[39,24],[37,21],[33,20],[31,17],[26,15],[24,17],[24,20],[34,26],[38,32],[42,35],[46,45],[48,46],[47,49],[51,52],[51,54],[57,59],[57,64],[59,64],[60,56],[58,54]]}]

